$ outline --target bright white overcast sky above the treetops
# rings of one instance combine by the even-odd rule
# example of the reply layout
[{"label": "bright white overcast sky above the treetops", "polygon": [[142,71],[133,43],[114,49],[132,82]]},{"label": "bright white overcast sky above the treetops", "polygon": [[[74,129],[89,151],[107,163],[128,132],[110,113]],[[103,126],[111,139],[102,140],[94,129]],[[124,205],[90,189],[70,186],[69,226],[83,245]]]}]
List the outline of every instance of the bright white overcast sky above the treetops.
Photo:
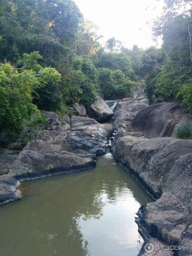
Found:
[{"label": "bright white overcast sky above the treetops", "polygon": [[152,38],[153,20],[161,15],[163,0],[74,0],[84,18],[93,21],[103,35],[101,43],[114,36],[129,49],[134,44],[144,49],[154,45]]}]

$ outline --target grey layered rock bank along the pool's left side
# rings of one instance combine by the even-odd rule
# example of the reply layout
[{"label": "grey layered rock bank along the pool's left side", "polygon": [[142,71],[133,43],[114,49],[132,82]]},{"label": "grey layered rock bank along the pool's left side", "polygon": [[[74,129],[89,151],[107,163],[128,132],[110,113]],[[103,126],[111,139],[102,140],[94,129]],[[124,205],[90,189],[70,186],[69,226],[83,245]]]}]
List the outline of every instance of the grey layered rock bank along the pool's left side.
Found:
[{"label": "grey layered rock bank along the pool's left side", "polygon": [[[100,108],[103,118],[112,115],[113,111],[104,100],[100,98],[99,101],[104,106]],[[86,113],[84,107],[74,107],[76,111]],[[20,181],[95,167],[96,156],[109,151],[108,141],[113,132],[111,124],[99,124],[95,119],[74,115],[64,116],[65,124],[62,124],[54,112],[42,113],[48,116],[44,136],[28,142],[20,152],[1,151],[0,204],[22,198],[21,191],[17,189]]]}]

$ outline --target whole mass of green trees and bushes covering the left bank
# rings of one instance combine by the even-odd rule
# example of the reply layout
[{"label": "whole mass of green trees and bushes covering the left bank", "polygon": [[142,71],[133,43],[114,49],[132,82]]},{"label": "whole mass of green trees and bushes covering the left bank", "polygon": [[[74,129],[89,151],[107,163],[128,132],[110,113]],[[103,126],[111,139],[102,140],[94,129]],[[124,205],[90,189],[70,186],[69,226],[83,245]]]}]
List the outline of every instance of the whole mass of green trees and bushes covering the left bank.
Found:
[{"label": "whole mass of green trees and bushes covering the left bank", "polygon": [[104,51],[100,37],[71,0],[0,1],[0,128],[20,132],[38,109],[63,116],[74,102],[91,105],[96,92],[130,95],[129,51],[115,38]]}]

